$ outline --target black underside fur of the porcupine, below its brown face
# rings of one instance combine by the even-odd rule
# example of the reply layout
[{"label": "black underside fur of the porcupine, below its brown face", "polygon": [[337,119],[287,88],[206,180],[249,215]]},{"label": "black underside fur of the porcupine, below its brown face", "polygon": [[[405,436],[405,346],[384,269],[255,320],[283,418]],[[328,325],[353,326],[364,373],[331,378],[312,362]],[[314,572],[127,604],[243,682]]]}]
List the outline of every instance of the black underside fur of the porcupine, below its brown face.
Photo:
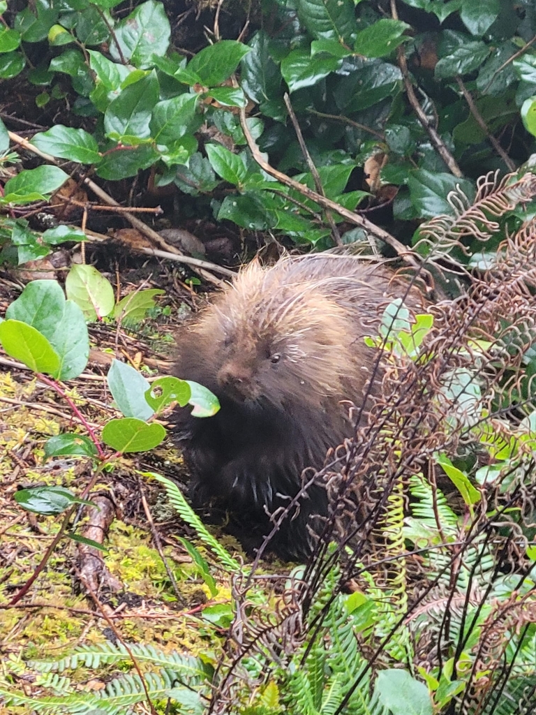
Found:
[{"label": "black underside fur of the porcupine, below its brown face", "polygon": [[[189,495],[198,511],[208,506],[213,516],[225,513],[228,531],[253,553],[272,531],[269,515],[289,505],[302,486],[302,471],[321,468],[340,435],[327,415],[326,433],[319,430],[321,411],[308,419],[221,403],[212,418],[192,418],[186,410],[177,415],[179,445],[192,473]],[[324,487],[309,486],[299,508],[289,510],[271,539],[269,551],[290,561],[307,558],[314,546],[311,531],[322,530],[322,518],[315,517],[327,516],[327,511]]]}]

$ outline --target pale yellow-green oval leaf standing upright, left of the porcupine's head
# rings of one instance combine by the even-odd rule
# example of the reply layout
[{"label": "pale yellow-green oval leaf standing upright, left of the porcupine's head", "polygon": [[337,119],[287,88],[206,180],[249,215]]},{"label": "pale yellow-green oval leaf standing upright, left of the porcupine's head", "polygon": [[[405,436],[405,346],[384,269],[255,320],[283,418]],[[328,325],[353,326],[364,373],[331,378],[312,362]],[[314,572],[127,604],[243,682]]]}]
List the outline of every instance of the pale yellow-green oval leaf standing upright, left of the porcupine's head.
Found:
[{"label": "pale yellow-green oval leaf standing upright, left of the porcupine's head", "polygon": [[67,297],[76,303],[86,320],[109,315],[114,310],[114,289],[94,266],[74,265],[65,281]]}]

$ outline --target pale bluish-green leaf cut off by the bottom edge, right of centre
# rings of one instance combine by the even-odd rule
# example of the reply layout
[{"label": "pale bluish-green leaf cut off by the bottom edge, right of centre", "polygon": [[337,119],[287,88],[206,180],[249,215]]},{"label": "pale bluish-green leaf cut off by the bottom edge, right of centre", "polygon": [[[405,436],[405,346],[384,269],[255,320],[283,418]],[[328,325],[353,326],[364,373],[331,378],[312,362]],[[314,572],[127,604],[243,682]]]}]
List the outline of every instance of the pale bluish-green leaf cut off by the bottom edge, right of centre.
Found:
[{"label": "pale bluish-green leaf cut off by the bottom edge, right of centre", "polygon": [[405,670],[380,670],[374,686],[374,701],[391,715],[432,715],[432,699],[427,686]]}]

